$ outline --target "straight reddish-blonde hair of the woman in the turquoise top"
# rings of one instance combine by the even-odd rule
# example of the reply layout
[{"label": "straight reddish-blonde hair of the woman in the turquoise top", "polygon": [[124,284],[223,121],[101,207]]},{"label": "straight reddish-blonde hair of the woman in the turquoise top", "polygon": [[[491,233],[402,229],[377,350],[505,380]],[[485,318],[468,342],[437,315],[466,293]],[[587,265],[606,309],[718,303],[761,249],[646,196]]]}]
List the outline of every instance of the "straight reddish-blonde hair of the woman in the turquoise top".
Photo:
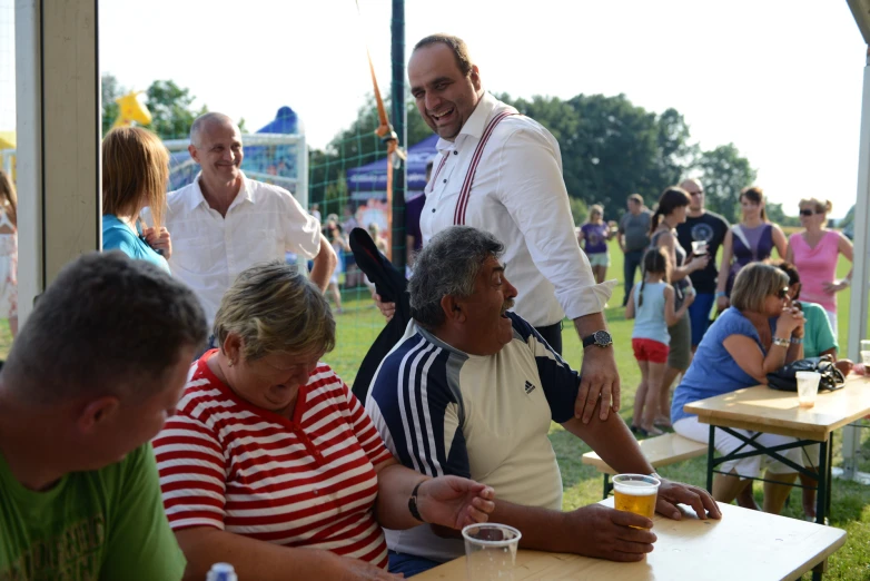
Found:
[{"label": "straight reddish-blonde hair of the woman in the turquoise top", "polygon": [[151,209],[154,227],[164,221],[169,151],[141,127],[118,127],[102,140],[102,213],[139,217]]}]

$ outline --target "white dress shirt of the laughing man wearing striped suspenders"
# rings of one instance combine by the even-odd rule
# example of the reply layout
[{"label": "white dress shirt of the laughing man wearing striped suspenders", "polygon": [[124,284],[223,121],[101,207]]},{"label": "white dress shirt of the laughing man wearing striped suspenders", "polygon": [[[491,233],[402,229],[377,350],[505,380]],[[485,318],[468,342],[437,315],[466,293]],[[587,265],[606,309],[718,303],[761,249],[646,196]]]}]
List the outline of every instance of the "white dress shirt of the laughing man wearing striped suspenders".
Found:
[{"label": "white dress shirt of the laughing man wearing striped suspenders", "polygon": [[[463,180],[490,119],[511,109],[485,92],[455,141],[438,139],[444,165],[433,174],[419,219],[425,245],[453,226]],[[437,168],[441,160],[436,160]],[[524,116],[503,119],[483,150],[465,225],[505,245],[505,276],[516,287],[514,311],[536,327],[603,311],[616,280],[595,284],[574,235],[558,142]]]}]

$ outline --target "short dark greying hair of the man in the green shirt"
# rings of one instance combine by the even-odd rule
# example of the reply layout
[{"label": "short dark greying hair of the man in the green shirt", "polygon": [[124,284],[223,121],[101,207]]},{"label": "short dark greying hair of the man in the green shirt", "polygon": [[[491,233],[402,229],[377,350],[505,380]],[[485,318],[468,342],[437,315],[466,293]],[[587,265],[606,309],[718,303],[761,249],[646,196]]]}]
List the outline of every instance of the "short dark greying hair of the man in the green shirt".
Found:
[{"label": "short dark greying hair of the man in the green shirt", "polygon": [[169,273],[119,250],[90,253],[39,297],[2,378],[38,405],[101,395],[139,402],[165,388],[206,329],[199,299]]}]

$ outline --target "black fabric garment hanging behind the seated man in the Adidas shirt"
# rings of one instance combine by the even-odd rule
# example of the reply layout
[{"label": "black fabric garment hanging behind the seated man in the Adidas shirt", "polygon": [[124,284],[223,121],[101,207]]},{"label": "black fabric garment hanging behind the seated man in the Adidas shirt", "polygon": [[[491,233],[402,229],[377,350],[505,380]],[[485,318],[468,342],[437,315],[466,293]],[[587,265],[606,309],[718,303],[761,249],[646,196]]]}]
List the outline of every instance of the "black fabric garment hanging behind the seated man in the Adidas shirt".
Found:
[{"label": "black fabric garment hanging behind the seated man in the Adidas shirt", "polygon": [[375,292],[385,303],[396,304],[396,314],[386,324],[375,342],[363,357],[359,371],[356,373],[354,385],[350,388],[360,403],[365,404],[368,386],[375,377],[377,367],[387,353],[398,343],[405,334],[411,321],[411,297],[407,292],[405,274],[396,269],[389,259],[380,254],[375,242],[363,228],[354,228],[350,232],[350,250],[356,258],[356,265],[375,284]]}]

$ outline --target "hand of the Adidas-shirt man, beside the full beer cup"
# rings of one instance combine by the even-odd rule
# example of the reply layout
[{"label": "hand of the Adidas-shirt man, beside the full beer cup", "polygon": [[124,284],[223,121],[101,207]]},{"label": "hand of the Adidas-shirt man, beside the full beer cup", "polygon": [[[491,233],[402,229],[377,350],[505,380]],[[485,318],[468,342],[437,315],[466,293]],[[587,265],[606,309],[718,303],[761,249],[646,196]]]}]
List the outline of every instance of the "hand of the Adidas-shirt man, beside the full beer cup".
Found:
[{"label": "hand of the Adidas-shirt man, beside the full beer cup", "polygon": [[[652,521],[631,512],[590,504],[564,513],[560,531],[569,551],[609,561],[641,561],[656,540]],[[639,526],[639,529],[633,529]]]}]

